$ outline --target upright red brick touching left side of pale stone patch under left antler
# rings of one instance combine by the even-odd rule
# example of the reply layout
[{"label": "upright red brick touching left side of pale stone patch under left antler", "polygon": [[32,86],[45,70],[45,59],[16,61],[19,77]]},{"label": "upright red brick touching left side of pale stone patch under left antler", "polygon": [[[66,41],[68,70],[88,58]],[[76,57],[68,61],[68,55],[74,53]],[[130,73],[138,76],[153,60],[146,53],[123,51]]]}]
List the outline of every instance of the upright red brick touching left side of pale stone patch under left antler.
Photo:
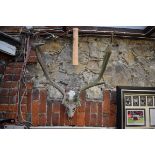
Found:
[{"label": "upright red brick touching left side of pale stone patch under left antler", "polygon": [[46,113],[46,98],[47,98],[46,89],[40,90],[40,106],[39,106],[40,113]]}]

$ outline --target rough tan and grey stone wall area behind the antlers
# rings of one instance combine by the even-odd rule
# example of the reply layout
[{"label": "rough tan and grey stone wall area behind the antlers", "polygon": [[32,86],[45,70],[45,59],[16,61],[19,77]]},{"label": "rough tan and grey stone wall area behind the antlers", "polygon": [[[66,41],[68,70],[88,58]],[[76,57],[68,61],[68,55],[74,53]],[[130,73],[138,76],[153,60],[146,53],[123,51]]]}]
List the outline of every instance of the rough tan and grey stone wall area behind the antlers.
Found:
[{"label": "rough tan and grey stone wall area behind the antlers", "polygon": [[[87,99],[102,100],[102,91],[115,89],[117,85],[155,86],[155,42],[128,39],[116,39],[115,42],[118,46],[112,49],[102,78],[105,84],[87,90]],[[66,89],[77,90],[96,79],[109,43],[109,38],[80,37],[78,66],[72,65],[72,39],[48,41],[41,50],[51,79]],[[48,98],[62,98],[47,84],[39,64],[29,65],[28,74],[33,77],[35,87],[48,89]]]}]

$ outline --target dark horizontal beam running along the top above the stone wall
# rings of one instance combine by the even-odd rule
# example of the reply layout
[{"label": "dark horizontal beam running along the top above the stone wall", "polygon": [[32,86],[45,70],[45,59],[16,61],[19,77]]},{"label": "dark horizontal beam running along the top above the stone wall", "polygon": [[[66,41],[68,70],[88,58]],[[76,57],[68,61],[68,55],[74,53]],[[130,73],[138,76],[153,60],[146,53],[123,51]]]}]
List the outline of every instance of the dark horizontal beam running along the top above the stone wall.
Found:
[{"label": "dark horizontal beam running along the top above the stone wall", "polygon": [[[151,34],[155,32],[154,26],[147,26],[144,30],[99,26],[34,26],[31,32],[37,33],[41,37],[48,37],[50,34],[60,37],[72,37],[74,27],[79,28],[79,36],[111,36],[114,33],[116,37],[121,38],[152,40],[154,37]],[[12,36],[15,34],[20,35],[20,29],[22,29],[21,34],[23,35],[27,32],[25,27],[0,27],[0,29]]]}]

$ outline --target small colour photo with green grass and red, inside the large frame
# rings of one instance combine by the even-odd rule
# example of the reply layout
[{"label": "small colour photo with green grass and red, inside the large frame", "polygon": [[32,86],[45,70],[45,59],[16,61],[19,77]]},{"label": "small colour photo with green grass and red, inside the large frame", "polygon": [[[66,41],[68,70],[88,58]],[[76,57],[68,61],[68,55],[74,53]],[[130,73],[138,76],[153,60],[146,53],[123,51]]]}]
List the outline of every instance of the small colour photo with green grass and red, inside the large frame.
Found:
[{"label": "small colour photo with green grass and red, inside the large frame", "polygon": [[126,109],[126,126],[145,126],[145,109]]}]

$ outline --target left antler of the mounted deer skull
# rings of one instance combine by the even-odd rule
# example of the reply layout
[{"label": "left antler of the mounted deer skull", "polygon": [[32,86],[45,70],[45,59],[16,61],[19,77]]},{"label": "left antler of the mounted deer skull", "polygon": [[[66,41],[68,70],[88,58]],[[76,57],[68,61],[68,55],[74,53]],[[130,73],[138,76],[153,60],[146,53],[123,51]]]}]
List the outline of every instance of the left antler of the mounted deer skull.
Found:
[{"label": "left antler of the mounted deer skull", "polygon": [[47,80],[49,81],[49,84],[52,85],[53,87],[55,87],[62,95],[63,97],[65,98],[65,89],[63,89],[62,87],[60,87],[56,82],[52,81],[50,79],[50,76],[48,74],[48,71],[46,69],[46,66],[45,66],[45,63],[44,61],[42,60],[42,54],[41,54],[41,50],[40,50],[40,47],[35,47],[35,51],[36,51],[36,55],[37,55],[37,59],[38,59],[38,62],[45,74],[45,77],[47,78]]}]

